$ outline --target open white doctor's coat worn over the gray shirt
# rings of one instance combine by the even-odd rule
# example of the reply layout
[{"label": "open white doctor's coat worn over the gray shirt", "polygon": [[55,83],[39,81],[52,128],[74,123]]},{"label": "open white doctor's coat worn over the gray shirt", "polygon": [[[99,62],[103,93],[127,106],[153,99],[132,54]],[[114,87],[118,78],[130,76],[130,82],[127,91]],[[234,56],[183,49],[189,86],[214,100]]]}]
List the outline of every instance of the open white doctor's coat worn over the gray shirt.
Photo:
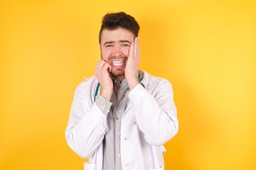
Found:
[{"label": "open white doctor's coat worn over the gray shirt", "polygon": [[[102,140],[107,116],[94,103],[96,77],[83,81],[75,90],[68,127],[68,145],[85,162],[86,170],[102,170]],[[142,84],[129,92],[130,102],[121,122],[122,169],[164,169],[164,143],[178,132],[173,89],[169,81],[144,72]]]}]

